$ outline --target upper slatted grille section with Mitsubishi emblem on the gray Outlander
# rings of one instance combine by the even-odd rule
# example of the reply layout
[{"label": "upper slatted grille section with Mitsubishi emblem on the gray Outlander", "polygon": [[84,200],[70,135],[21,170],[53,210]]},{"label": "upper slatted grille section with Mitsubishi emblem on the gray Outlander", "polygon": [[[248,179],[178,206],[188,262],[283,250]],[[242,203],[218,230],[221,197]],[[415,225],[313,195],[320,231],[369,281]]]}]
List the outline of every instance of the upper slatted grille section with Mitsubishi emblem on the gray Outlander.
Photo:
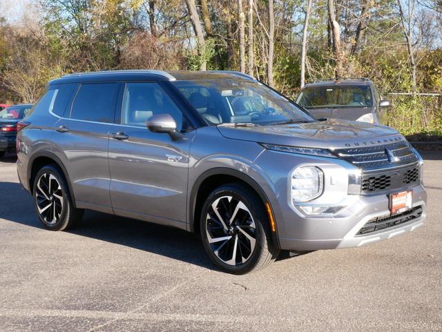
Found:
[{"label": "upper slatted grille section with Mitsubishi emblem on the gray Outlander", "polygon": [[419,159],[407,141],[398,141],[380,146],[341,148],[334,150],[338,155],[355,166],[373,171],[380,168],[393,168],[418,162]]}]

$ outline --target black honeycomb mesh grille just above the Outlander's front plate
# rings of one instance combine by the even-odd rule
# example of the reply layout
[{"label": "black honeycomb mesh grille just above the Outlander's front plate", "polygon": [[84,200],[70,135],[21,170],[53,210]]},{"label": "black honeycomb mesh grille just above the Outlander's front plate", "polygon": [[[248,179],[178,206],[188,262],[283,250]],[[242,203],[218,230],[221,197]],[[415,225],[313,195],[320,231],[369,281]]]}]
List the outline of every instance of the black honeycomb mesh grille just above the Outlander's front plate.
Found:
[{"label": "black honeycomb mesh grille just above the Outlander's front plate", "polygon": [[361,192],[363,194],[378,193],[400,189],[410,184],[419,182],[419,167],[383,170],[376,173],[363,174],[361,179]]}]

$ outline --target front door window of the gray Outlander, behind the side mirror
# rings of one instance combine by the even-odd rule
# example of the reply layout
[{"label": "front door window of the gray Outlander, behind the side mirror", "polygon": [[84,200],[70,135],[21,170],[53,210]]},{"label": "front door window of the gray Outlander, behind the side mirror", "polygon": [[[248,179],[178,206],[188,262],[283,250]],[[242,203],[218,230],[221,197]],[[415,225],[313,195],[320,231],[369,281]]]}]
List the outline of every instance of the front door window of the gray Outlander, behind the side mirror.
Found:
[{"label": "front door window of the gray Outlander, behind the side mirror", "polygon": [[183,128],[183,115],[175,102],[157,83],[127,83],[122,105],[122,124],[146,126],[149,117],[170,114]]}]

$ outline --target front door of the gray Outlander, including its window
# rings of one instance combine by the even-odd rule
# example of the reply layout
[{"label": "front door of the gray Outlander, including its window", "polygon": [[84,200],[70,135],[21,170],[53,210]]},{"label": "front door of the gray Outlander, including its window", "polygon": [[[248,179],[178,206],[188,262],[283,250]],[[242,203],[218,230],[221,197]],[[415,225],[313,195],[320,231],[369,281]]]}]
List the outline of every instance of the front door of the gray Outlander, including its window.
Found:
[{"label": "front door of the gray Outlander, including its window", "polygon": [[115,214],[185,228],[189,150],[195,131],[173,140],[152,133],[146,120],[169,113],[177,130],[182,111],[156,82],[127,83],[120,124],[109,141],[111,200]]}]

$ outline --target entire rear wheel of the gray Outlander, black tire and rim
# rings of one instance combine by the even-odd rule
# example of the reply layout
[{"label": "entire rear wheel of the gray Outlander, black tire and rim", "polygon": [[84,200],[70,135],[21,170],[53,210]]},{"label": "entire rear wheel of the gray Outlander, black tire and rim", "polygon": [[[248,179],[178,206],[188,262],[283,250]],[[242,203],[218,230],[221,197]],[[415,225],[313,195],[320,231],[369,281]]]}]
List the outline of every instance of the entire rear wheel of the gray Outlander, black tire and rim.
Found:
[{"label": "entire rear wheel of the gray Outlander, black tire and rim", "polygon": [[64,231],[83,217],[84,210],[74,208],[68,188],[63,173],[55,165],[44,166],[35,176],[32,190],[35,211],[50,231]]}]

